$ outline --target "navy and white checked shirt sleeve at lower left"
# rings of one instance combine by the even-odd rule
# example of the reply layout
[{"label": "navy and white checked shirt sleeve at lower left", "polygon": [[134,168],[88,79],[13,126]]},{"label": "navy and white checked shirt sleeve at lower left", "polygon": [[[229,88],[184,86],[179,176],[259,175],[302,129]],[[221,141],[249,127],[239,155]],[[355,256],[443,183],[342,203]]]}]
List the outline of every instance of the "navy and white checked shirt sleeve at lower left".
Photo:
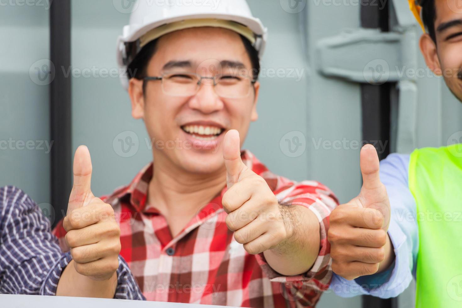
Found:
[{"label": "navy and white checked shirt sleeve at lower left", "polygon": [[[16,187],[1,187],[0,293],[55,295],[71,259],[62,253],[35,202]],[[144,299],[122,257],[117,275],[115,298]]]}]

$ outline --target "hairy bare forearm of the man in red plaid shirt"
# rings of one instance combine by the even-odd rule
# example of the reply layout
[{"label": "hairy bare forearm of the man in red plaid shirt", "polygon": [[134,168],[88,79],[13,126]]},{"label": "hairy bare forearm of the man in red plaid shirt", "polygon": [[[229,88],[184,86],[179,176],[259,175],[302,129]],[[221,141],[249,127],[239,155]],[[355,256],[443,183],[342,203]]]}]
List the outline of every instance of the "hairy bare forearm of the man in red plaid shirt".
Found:
[{"label": "hairy bare forearm of the man in red plaid shirt", "polygon": [[[269,266],[285,276],[300,275],[313,266],[319,254],[319,222],[316,215],[301,205],[288,207],[292,235],[285,242],[263,252]],[[286,217],[288,218],[288,217]]]}]

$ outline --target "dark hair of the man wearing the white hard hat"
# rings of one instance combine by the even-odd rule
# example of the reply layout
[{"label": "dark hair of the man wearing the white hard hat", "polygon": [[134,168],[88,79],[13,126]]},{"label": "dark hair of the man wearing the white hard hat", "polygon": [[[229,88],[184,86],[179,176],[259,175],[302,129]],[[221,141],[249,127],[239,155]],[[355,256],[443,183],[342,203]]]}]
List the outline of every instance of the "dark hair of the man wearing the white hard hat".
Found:
[{"label": "dark hair of the man wearing the white hard hat", "polygon": [[[244,44],[247,54],[249,54],[250,63],[252,64],[252,78],[254,80],[258,79],[260,75],[260,60],[258,59],[258,51],[252,46],[250,41],[242,35],[241,40]],[[157,42],[158,39],[155,39],[146,44],[141,48],[140,52],[136,55],[134,60],[128,65],[127,72],[128,78],[144,79],[147,76],[147,66],[149,61],[152,59],[152,56],[157,51]],[[146,83],[143,83],[143,92],[146,90]]]}]

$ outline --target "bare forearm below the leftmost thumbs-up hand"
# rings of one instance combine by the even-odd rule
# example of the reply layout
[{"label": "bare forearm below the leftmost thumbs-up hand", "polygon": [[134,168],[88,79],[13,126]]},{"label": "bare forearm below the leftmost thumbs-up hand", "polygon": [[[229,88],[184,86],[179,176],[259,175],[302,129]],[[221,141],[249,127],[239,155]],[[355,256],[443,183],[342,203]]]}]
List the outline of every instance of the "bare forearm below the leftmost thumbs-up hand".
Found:
[{"label": "bare forearm below the leftmost thumbs-up hand", "polygon": [[71,260],[61,274],[56,289],[57,296],[114,298],[117,287],[117,272],[108,280],[96,281],[76,272]]}]

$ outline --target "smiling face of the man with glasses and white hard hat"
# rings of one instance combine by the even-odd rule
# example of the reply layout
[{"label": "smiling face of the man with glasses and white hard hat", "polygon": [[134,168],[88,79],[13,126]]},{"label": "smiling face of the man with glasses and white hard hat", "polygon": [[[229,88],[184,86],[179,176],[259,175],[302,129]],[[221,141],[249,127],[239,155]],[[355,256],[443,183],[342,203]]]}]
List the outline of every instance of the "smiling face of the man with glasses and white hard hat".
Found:
[{"label": "smiling face of the man with glasses and white hard hat", "polygon": [[[235,91],[223,94],[230,79],[236,82],[235,75],[249,76],[251,69],[241,37],[231,30],[191,28],[160,37],[147,75],[169,75],[171,79],[164,78],[164,85],[160,80],[147,81],[144,93],[143,82],[131,79],[129,89],[132,114],[144,120],[154,141],[155,161],[189,173],[224,170],[223,137],[230,129],[237,129],[242,145],[250,122],[257,120],[259,83],[252,86],[251,78],[243,77],[239,83],[243,89],[247,85],[247,95],[241,92],[239,98],[228,98]],[[195,93],[194,74],[208,78],[218,74],[223,78],[216,89],[211,79],[202,79],[203,85]]]}]

